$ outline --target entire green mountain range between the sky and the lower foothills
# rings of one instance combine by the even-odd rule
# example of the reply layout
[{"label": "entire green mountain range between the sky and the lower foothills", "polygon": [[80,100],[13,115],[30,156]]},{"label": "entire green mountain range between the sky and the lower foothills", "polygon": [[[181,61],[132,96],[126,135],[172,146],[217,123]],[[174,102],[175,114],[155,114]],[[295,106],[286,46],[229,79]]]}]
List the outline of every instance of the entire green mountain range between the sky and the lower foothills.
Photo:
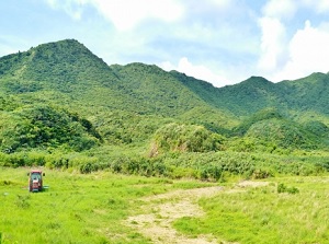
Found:
[{"label": "entire green mountain range between the sky and the lower foothills", "polygon": [[[327,116],[328,75],[314,73],[280,83],[251,77],[241,83],[218,89],[177,71],[166,72],[156,66],[129,63],[109,67],[73,39],[42,44],[0,59],[4,91],[50,90],[69,93],[75,100],[86,96],[88,101],[91,96],[94,105],[164,116],[180,116],[202,106],[217,108],[229,116],[231,113],[248,116],[265,107],[276,107],[284,114],[294,109]],[[100,95],[94,96],[95,93]]]}]

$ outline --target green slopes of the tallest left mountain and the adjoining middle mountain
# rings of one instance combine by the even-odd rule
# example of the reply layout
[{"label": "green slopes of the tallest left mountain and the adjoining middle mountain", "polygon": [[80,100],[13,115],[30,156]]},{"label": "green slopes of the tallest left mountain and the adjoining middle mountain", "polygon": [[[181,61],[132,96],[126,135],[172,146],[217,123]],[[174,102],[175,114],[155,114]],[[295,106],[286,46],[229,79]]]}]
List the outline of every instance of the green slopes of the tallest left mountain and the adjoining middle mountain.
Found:
[{"label": "green slopes of the tallest left mountain and the adjoining middle mountain", "polygon": [[52,91],[80,102],[139,114],[175,116],[195,106],[207,106],[158,67],[109,67],[73,39],[2,57],[0,78],[9,93]]}]

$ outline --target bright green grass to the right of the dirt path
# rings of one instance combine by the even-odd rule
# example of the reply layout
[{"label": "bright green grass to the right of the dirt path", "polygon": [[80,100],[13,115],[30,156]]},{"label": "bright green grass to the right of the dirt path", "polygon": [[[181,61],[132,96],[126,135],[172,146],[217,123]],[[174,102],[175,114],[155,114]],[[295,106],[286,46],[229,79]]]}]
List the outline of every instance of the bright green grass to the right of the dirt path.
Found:
[{"label": "bright green grass to the right of the dirt path", "polygon": [[[241,244],[327,243],[328,182],[329,177],[287,177],[266,187],[224,190],[200,200],[204,218],[182,218],[174,226],[191,236],[207,233]],[[281,183],[299,193],[277,193]]]}]

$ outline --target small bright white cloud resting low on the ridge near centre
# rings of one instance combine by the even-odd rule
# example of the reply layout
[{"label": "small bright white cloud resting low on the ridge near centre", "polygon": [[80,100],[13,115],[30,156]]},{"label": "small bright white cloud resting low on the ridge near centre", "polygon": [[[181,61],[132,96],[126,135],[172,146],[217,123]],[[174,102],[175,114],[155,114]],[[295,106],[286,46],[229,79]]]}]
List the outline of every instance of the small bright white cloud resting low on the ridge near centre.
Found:
[{"label": "small bright white cloud resting low on the ridge near centre", "polygon": [[164,61],[159,66],[167,71],[177,70],[190,77],[194,77],[196,79],[211,82],[215,86],[223,86],[225,84],[231,83],[227,78],[225,78],[225,75],[212,71],[209,68],[205,66],[193,65],[192,62],[189,61],[186,57],[181,58],[178,62],[178,66],[174,66],[169,61]]}]

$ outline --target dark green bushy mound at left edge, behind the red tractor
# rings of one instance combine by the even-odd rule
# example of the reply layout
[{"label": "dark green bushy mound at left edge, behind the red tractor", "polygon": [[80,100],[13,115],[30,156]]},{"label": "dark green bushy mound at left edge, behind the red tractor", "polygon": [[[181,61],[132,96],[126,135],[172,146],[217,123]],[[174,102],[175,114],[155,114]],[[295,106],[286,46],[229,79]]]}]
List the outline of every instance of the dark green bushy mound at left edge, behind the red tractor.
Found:
[{"label": "dark green bushy mound at left edge, behind the red tractor", "polygon": [[82,151],[94,147],[100,139],[87,119],[50,106],[24,106],[10,113],[0,113],[0,148],[8,153],[64,144]]}]

